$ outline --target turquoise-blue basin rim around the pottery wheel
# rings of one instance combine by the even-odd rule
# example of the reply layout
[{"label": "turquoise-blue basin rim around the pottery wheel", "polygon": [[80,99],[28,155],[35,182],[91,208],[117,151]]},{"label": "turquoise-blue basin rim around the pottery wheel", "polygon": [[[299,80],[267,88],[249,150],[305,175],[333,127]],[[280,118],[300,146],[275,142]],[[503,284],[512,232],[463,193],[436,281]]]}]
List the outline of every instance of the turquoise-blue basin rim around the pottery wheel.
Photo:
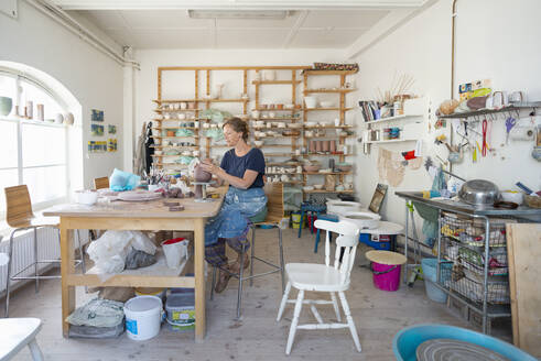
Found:
[{"label": "turquoise-blue basin rim around the pottery wheel", "polygon": [[415,350],[424,341],[446,338],[461,340],[500,353],[511,361],[538,361],[534,357],[497,338],[447,325],[415,325],[407,327],[392,339],[392,351],[398,361],[415,361]]}]

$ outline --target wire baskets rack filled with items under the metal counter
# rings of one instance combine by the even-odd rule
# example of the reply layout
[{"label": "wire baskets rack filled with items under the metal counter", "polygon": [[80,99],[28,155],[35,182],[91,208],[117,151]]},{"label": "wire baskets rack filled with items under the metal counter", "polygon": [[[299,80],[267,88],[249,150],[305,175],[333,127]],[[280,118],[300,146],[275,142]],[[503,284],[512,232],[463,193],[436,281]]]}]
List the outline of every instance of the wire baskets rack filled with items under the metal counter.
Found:
[{"label": "wire baskets rack filled with items under the metal counter", "polygon": [[473,303],[483,303],[485,264],[487,271],[487,303],[510,303],[505,223],[489,223],[489,256],[485,256],[485,225],[483,220],[464,219],[443,212],[441,218],[440,285],[458,293]]}]

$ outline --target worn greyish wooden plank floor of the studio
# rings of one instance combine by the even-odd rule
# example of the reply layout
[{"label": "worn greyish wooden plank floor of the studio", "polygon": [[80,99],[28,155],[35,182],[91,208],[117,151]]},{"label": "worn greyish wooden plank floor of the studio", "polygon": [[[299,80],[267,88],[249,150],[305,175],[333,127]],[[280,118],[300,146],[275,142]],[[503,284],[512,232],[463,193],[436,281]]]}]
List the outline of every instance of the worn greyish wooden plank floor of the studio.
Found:
[{"label": "worn greyish wooden plank floor of the studio", "polygon": [[[257,231],[257,254],[277,259],[278,242],[275,230]],[[323,262],[324,249],[313,252],[314,237],[304,232],[301,239],[292,230],[284,231],[285,262]],[[299,330],[292,353],[284,353],[286,336],[293,313],[289,305],[284,318],[275,321],[281,298],[281,283],[278,274],[255,281],[246,286],[244,313],[235,321],[237,284],[231,280],[228,288],[207,300],[207,336],[205,342],[195,343],[193,331],[177,333],[162,327],[158,337],[136,342],[123,333],[118,339],[64,339],[61,327],[59,281],[44,281],[39,294],[28,285],[13,294],[10,314],[12,317],[40,317],[44,325],[37,342],[46,360],[394,360],[392,338],[402,328],[415,324],[448,324],[467,327],[467,324],[452,314],[445,305],[426,298],[424,285],[415,282],[413,288],[401,286],[398,292],[383,292],[372,285],[370,271],[365,266],[364,253],[357,252],[357,262],[351,273],[351,287],[346,297],[359,332],[363,352],[355,350],[349,330]],[[264,270],[257,264],[256,270]],[[210,272],[209,272],[210,274]],[[207,281],[207,299],[210,280]],[[82,299],[94,297],[77,288]],[[292,296],[296,293],[292,291]],[[310,296],[310,293],[309,293]],[[3,302],[2,302],[3,307]],[[334,319],[332,306],[320,307],[322,317]],[[3,309],[2,309],[3,310]],[[306,308],[301,322],[313,322]],[[30,360],[25,349],[14,360]]]}]

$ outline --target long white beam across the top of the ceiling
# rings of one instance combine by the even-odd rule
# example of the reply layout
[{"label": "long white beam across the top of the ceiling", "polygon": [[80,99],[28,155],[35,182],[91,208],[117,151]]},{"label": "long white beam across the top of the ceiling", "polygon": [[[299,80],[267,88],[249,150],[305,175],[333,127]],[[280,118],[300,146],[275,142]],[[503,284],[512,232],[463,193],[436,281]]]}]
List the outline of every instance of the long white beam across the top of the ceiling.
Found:
[{"label": "long white beam across the top of the ceiling", "polygon": [[317,9],[407,9],[429,0],[50,0],[63,10],[317,10]]}]

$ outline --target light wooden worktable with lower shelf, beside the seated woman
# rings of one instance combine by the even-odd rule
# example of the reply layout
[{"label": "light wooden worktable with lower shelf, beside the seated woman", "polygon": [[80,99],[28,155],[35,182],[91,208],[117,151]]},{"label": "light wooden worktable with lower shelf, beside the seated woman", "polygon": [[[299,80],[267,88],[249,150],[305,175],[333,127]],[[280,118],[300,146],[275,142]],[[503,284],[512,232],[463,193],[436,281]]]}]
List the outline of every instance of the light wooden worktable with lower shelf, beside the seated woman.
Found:
[{"label": "light wooden worktable with lower shelf, beside the seated woman", "polygon": [[[98,201],[94,206],[58,205],[46,209],[44,216],[61,219],[62,329],[68,336],[66,317],[75,309],[75,286],[99,287],[190,287],[195,288],[195,340],[205,338],[205,222],[218,214],[223,198],[195,203],[193,198],[177,199],[185,209],[170,211],[164,199],[147,203]],[[75,274],[73,230],[186,230],[194,231],[194,276],[117,274],[105,282],[96,274]]]}]

